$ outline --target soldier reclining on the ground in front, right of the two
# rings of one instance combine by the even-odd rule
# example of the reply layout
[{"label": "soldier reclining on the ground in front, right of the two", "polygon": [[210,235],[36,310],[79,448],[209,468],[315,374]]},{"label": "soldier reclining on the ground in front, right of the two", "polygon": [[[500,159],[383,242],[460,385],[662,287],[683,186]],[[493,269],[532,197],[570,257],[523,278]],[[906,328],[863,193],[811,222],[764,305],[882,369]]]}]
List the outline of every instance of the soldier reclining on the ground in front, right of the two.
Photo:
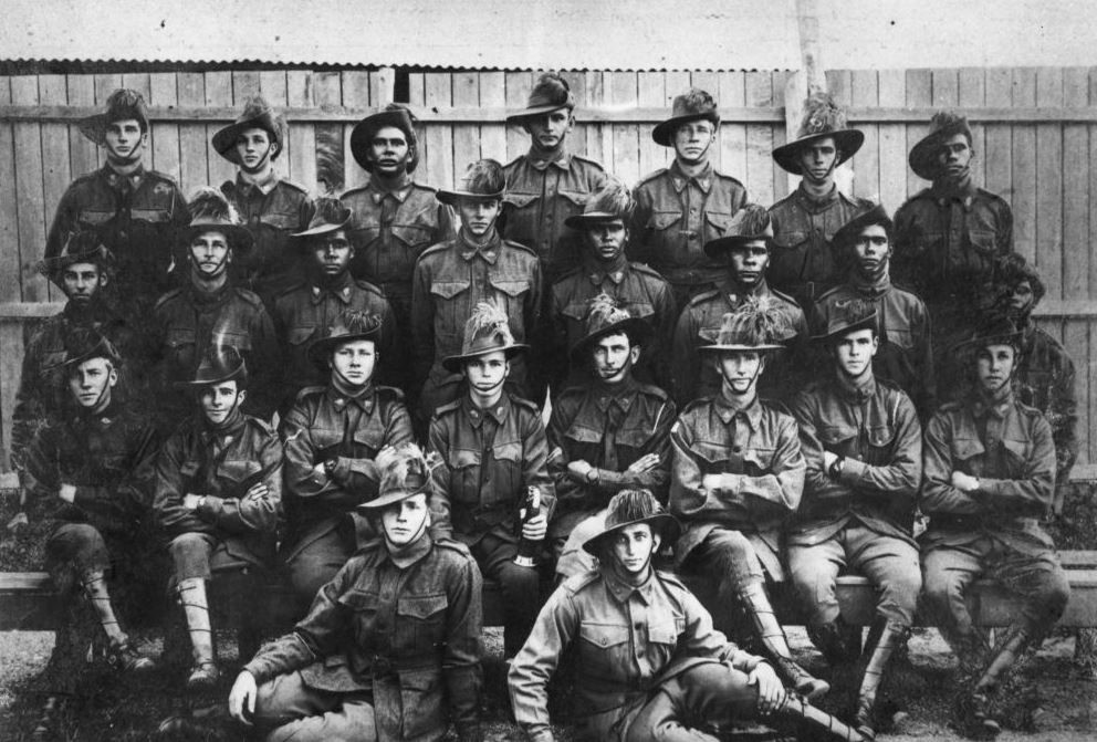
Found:
[{"label": "soldier reclining on the ground in front, right of the two", "polygon": [[593,742],[702,742],[736,722],[803,731],[804,740],[864,738],[785,691],[773,668],[712,628],[712,618],[651,556],[678,534],[647,490],[609,501],[605,530],[585,545],[598,571],[566,579],[511,663],[514,718],[551,742],[548,683],[565,654],[575,668],[578,735]]}]

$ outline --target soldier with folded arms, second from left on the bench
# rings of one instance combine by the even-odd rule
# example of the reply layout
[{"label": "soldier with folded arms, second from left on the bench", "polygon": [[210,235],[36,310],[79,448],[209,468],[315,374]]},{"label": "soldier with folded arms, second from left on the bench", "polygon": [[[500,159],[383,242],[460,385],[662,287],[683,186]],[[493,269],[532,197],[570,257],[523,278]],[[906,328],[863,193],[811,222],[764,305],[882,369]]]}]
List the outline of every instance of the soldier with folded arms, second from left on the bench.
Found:
[{"label": "soldier with folded arms, second from left on the bench", "polygon": [[187,686],[205,688],[219,676],[206,583],[223,583],[227,594],[242,592],[244,604],[258,607],[261,574],[274,561],[282,443],[269,425],[240,410],[248,369],[236,348],[211,348],[186,385],[199,414],[165,441],[153,506],[190,636]]}]

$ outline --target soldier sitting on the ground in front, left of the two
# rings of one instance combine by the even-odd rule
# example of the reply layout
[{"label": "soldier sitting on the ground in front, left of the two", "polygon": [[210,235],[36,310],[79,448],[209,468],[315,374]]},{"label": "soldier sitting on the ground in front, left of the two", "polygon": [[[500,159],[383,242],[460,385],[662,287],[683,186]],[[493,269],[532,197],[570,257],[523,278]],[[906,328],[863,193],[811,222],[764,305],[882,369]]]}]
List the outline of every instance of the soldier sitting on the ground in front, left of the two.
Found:
[{"label": "soldier sitting on the ground in front, left of the two", "polygon": [[468,548],[431,539],[430,468],[414,443],[386,457],[359,505],[384,534],[324,585],[292,634],[248,662],[229,693],[268,742],[480,740],[482,581]]}]

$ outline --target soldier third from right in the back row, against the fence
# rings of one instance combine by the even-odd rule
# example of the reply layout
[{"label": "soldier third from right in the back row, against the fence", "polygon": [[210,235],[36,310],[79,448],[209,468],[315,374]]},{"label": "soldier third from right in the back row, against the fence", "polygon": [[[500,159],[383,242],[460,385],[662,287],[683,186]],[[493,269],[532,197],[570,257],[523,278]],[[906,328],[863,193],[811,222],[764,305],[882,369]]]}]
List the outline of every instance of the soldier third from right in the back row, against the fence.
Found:
[{"label": "soldier third from right in the back row, against the fence", "polygon": [[651,132],[656,144],[675,148],[675,161],[636,187],[628,257],[670,282],[676,312],[723,278],[723,264],[703,247],[728,234],[746,203],[743,184],[709,161],[719,129],[711,95],[694,87],[677,96],[670,118]]}]

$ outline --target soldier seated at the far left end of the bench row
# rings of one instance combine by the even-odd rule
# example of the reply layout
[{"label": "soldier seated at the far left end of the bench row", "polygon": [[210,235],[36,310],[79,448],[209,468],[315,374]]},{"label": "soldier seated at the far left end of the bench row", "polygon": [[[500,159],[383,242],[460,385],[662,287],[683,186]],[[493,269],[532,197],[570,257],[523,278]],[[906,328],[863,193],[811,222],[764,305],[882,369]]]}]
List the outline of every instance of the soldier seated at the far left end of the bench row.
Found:
[{"label": "soldier seated at the far left end of the bench row", "polygon": [[[109,341],[73,328],[65,356],[61,369],[71,405],[39,430],[25,459],[27,491],[51,501],[43,509],[52,525],[45,567],[64,599],[82,591],[103,626],[107,656],[119,669],[150,670],[153,661],[122,630],[107,575],[132,592],[132,583],[144,583],[146,595],[154,593],[158,575],[148,574],[148,521],[155,437],[114,397],[122,359]],[[51,675],[62,686],[71,684],[74,658],[87,648],[69,646],[69,639],[67,631],[58,633],[51,660]]]}]

